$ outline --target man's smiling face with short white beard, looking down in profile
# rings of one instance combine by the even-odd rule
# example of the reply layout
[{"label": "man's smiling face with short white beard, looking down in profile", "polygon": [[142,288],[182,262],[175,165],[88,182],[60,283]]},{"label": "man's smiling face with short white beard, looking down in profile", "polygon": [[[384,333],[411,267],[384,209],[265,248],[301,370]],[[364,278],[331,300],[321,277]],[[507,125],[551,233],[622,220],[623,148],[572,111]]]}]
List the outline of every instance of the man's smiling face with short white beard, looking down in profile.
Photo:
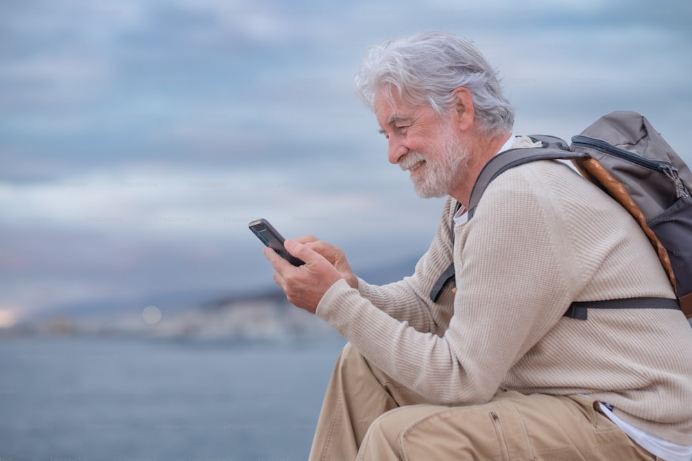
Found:
[{"label": "man's smiling face with short white beard, looking down in profile", "polygon": [[449,194],[468,163],[453,114],[440,117],[430,106],[406,104],[396,91],[387,97],[387,90],[375,94],[374,109],[380,132],[389,142],[389,161],[410,171],[419,196]]}]

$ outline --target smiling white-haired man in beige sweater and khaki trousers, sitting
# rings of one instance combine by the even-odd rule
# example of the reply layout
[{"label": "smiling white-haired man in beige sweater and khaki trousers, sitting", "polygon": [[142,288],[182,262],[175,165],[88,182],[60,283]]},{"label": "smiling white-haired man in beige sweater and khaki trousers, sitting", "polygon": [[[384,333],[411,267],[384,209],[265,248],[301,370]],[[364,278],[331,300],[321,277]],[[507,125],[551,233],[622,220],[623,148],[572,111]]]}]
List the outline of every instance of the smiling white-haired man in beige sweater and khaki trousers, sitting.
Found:
[{"label": "smiling white-haired man in beige sweater and khaki trousers, sitting", "polygon": [[[299,308],[349,344],[311,460],[653,460],[692,454],[692,330],[679,310],[574,301],[674,298],[630,215],[561,162],[502,173],[473,219],[475,179],[515,137],[495,71],[437,32],[368,53],[356,87],[423,197],[448,196],[432,244],[402,281],[358,279],[338,248],[265,249]],[[456,288],[435,285],[453,263]]]}]

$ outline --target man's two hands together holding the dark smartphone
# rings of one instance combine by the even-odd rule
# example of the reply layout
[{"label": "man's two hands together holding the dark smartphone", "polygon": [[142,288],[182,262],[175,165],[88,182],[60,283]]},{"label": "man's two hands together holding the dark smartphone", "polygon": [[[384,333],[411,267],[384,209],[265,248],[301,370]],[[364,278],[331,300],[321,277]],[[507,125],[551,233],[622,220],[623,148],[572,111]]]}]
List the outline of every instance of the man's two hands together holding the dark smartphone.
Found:
[{"label": "man's two hands together holding the dark smartphone", "polygon": [[338,248],[312,236],[287,240],[284,247],[305,264],[295,267],[268,247],[264,248],[264,256],[276,271],[274,281],[298,308],[314,314],[325,292],[339,279],[350,278],[357,285],[356,276]]}]

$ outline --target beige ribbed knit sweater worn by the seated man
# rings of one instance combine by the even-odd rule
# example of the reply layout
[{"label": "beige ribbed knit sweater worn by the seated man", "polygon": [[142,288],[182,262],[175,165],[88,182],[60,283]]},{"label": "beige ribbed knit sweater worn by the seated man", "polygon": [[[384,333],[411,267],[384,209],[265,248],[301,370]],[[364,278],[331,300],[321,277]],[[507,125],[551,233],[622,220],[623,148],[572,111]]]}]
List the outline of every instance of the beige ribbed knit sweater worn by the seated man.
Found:
[{"label": "beige ribbed knit sweater worn by the seated man", "polygon": [[[562,162],[496,178],[468,223],[448,198],[412,276],[334,283],[317,314],[361,354],[438,404],[483,404],[500,391],[583,394],[639,429],[692,444],[692,328],[679,310],[592,309],[572,301],[673,298],[628,212]],[[451,232],[455,232],[454,241]],[[454,261],[456,293],[430,301]]]}]

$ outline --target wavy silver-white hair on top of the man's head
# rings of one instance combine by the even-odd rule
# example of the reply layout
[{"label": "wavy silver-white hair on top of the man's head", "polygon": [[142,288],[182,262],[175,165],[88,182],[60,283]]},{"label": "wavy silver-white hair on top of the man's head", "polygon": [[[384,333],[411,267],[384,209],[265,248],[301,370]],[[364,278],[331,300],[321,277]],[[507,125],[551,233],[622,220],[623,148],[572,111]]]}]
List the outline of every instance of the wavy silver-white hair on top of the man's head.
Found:
[{"label": "wavy silver-white hair on top of the man's head", "polygon": [[441,115],[453,109],[455,88],[473,96],[475,117],[482,131],[511,131],[514,109],[504,95],[497,72],[470,41],[444,32],[422,32],[390,39],[365,55],[354,77],[356,92],[374,109],[374,95],[392,86],[408,104],[428,104]]}]

